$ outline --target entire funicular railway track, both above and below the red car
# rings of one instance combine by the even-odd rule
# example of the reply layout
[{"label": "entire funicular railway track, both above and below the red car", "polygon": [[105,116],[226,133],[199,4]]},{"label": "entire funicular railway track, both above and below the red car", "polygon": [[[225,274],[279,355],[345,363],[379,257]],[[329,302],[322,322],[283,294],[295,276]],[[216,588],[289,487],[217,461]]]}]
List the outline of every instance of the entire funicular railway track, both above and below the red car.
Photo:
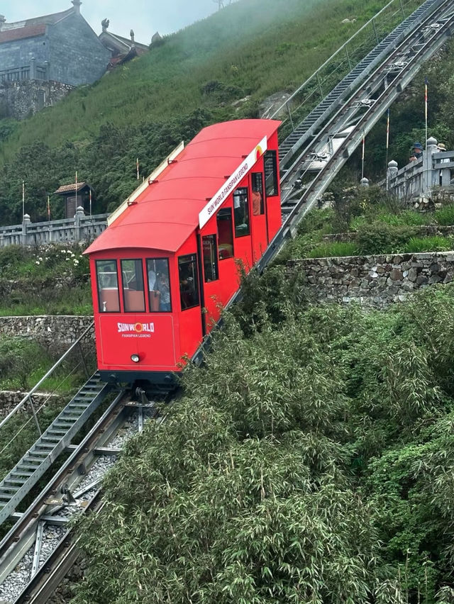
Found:
[{"label": "entire funicular railway track, both above and below the red car", "polygon": [[[393,37],[391,34],[391,38],[387,38],[394,47],[389,48],[386,57],[376,60],[383,51],[383,43],[380,43],[377,52],[367,55],[372,57],[372,62],[365,65],[367,73],[358,77],[358,69],[352,70],[358,84],[354,91],[350,86],[353,80],[346,77],[348,86],[341,86],[341,104],[334,102],[326,111],[324,99],[321,103],[326,111],[323,118],[321,108],[315,108],[314,115],[295,128],[299,138],[292,150],[289,150],[287,140],[287,157],[290,157],[290,151],[293,157],[281,179],[284,222],[260,260],[259,269],[265,267],[294,235],[299,220],[326,190],[362,137],[411,82],[423,62],[452,35],[454,0],[426,1],[423,5],[428,10],[420,8],[419,12],[415,11],[418,12],[416,16],[406,19],[411,27],[401,24],[397,28],[398,35]],[[432,9],[436,9],[436,15]],[[312,128],[310,133],[304,130],[304,123]],[[329,147],[334,135],[346,128],[348,132],[341,145],[332,148],[323,167],[299,187],[298,183],[311,173],[314,157],[326,145]],[[16,522],[0,542],[0,604],[45,603],[50,598],[79,555],[77,537],[70,530],[69,520],[74,515],[96,513],[101,509],[99,487],[102,476],[116,461],[123,440],[141,429],[145,415],[155,415],[153,405],[148,407],[144,403],[143,400],[131,401],[125,391],[118,392],[79,445],[65,442],[70,457],[28,510],[10,515]],[[6,505],[0,505],[0,508],[7,516],[9,508]]]}]

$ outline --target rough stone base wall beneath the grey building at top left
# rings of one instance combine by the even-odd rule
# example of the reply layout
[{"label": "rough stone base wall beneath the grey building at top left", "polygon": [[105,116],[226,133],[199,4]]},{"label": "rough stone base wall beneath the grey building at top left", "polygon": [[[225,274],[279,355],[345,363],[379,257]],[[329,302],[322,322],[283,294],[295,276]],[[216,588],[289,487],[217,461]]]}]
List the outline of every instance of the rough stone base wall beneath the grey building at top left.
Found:
[{"label": "rough stone base wall beneath the grey building at top left", "polygon": [[55,105],[61,101],[74,86],[60,82],[44,80],[22,80],[0,84],[0,106],[4,113],[16,118],[25,119],[30,113],[36,113],[43,107]]}]

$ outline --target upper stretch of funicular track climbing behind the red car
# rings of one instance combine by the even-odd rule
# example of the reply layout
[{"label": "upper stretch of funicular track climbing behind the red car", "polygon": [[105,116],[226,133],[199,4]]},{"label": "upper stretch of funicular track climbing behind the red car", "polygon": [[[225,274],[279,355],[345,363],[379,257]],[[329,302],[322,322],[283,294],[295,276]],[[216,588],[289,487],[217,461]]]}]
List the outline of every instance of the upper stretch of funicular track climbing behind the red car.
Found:
[{"label": "upper stretch of funicular track climbing behind the red car", "polygon": [[[317,199],[333,181],[348,157],[360,145],[389,106],[397,99],[418,73],[421,65],[439,50],[454,33],[454,0],[444,0],[421,19],[418,26],[394,48],[387,58],[365,78],[345,103],[326,123],[321,125],[304,145],[301,145],[292,164],[281,177],[282,228],[275,235],[258,262],[262,270],[282,250],[285,242],[294,237],[301,218],[314,206]],[[316,111],[316,109],[314,109]],[[311,164],[335,135],[348,128],[341,144],[326,157],[323,167],[314,177],[302,184],[310,174]],[[301,183],[301,185],[299,184]]]}]

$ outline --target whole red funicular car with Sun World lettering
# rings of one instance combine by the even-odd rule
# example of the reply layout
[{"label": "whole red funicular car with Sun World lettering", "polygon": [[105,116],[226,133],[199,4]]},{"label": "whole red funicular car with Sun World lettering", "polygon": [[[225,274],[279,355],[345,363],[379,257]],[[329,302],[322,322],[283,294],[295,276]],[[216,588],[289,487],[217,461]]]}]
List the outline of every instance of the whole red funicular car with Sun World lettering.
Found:
[{"label": "whole red funicular car with Sun World lettering", "polygon": [[172,384],[281,225],[278,121],[204,128],[89,246],[98,369]]}]

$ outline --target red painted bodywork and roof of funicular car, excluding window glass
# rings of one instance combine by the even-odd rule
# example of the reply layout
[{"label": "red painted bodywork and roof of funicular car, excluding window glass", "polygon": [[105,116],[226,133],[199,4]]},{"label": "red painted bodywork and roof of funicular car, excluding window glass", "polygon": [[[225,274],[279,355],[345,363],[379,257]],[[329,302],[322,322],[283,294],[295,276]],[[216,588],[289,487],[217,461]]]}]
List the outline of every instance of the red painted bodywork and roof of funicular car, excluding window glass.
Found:
[{"label": "red painted bodywork and roof of funicular car, excluding window glass", "polygon": [[[159,182],[150,184],[137,203],[126,208],[89,247],[86,253],[90,255],[92,268],[99,369],[179,371],[182,357],[192,357],[202,340],[202,311],[201,304],[182,308],[178,258],[198,254],[199,212],[206,206],[207,198],[238,169],[243,156],[250,154],[264,135],[268,136],[268,149],[277,150],[278,125],[279,122],[267,120],[245,120],[204,128],[178,156],[178,161],[165,169]],[[203,269],[199,275],[199,291],[203,288],[207,310],[206,331],[218,320],[219,305],[225,306],[238,290],[238,261],[248,271],[265,251],[267,237],[271,240],[281,225],[279,195],[266,199],[265,214],[254,214],[251,173],[262,170],[260,158],[236,185],[248,189],[250,235],[235,237],[233,228],[234,257],[224,257],[226,250],[222,252],[218,246],[218,279],[205,283]],[[231,208],[233,216],[233,191],[222,202],[222,208]],[[218,236],[218,228],[221,225],[214,215],[200,235]],[[150,312],[153,308],[150,309],[148,296],[145,296],[145,313],[125,313],[123,296],[120,312],[99,312],[95,260],[116,259],[119,266],[121,259],[139,258],[144,274],[147,258],[169,259],[172,312]],[[118,281],[121,290],[121,270]],[[134,288],[127,295],[131,298],[135,293],[140,297]],[[105,291],[103,295],[106,297]],[[109,306],[113,308],[112,301]],[[138,354],[139,363],[131,360],[132,354]]]}]

